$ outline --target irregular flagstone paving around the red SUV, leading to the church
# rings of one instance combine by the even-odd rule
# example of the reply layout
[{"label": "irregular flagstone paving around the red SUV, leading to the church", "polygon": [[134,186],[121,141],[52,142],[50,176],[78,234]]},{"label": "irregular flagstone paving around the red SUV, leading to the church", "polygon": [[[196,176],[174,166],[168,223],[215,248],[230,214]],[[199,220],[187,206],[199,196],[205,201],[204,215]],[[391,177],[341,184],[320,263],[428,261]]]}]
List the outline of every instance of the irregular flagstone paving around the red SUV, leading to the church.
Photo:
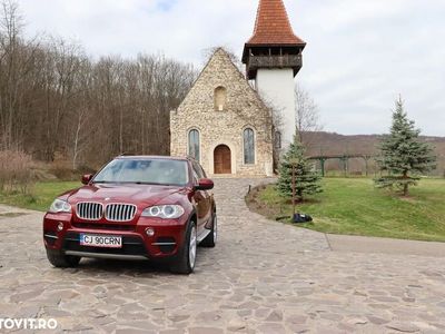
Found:
[{"label": "irregular flagstone paving around the red SUV, leading to the church", "polygon": [[260,180],[216,180],[220,239],[197,269],[46,261],[41,214],[0,210],[0,317],[92,333],[445,333],[445,259],[333,252],[324,234],[249,213]]}]

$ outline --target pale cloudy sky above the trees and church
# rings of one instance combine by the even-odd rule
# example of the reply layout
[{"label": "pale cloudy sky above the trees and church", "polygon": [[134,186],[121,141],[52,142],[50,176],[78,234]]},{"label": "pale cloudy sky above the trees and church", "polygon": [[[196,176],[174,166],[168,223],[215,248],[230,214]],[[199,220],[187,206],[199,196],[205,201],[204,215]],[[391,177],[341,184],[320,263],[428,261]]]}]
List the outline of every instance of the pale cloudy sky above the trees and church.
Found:
[{"label": "pale cloudy sky above the trees and church", "polygon": [[[445,136],[444,0],[284,0],[307,42],[296,81],[324,130],[383,134],[398,96],[424,135]],[[241,56],[258,0],[18,0],[32,37],[83,46],[91,57],[165,53],[197,69],[206,50]]]}]

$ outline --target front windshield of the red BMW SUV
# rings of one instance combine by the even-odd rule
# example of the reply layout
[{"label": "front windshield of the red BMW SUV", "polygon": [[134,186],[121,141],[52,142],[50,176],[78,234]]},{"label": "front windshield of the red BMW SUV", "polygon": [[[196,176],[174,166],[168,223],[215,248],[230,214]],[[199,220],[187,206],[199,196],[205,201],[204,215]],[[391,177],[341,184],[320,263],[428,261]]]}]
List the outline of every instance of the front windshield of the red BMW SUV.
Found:
[{"label": "front windshield of the red BMW SUV", "polygon": [[93,183],[135,183],[185,186],[187,161],[171,159],[116,159],[109,163]]}]

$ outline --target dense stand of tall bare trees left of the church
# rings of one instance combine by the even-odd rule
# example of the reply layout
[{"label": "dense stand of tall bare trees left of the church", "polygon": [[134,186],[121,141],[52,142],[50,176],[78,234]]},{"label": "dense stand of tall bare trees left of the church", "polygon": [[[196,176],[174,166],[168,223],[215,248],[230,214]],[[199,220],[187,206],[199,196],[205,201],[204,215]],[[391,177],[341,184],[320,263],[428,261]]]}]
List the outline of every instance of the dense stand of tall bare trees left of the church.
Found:
[{"label": "dense stand of tall bare trees left of the church", "polygon": [[121,153],[169,154],[171,109],[196,78],[162,55],[102,57],[60,38],[27,39],[0,0],[0,150],[97,166]]}]

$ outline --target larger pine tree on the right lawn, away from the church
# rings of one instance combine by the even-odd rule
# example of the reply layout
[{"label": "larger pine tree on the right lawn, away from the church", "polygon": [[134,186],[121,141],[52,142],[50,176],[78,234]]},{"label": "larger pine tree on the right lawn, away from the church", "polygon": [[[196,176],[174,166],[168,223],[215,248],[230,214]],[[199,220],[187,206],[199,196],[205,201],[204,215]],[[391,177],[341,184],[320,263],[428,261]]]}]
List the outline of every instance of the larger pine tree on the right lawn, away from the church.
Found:
[{"label": "larger pine tree on the right lawn, away from the church", "polygon": [[417,185],[419,175],[435,168],[436,156],[433,148],[418,138],[421,130],[404,111],[402,98],[396,101],[390,134],[380,141],[380,157],[377,163],[388,176],[375,180],[379,188],[398,188],[404,196],[409,186]]}]

